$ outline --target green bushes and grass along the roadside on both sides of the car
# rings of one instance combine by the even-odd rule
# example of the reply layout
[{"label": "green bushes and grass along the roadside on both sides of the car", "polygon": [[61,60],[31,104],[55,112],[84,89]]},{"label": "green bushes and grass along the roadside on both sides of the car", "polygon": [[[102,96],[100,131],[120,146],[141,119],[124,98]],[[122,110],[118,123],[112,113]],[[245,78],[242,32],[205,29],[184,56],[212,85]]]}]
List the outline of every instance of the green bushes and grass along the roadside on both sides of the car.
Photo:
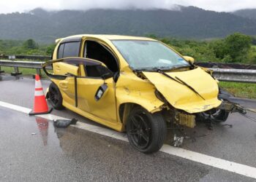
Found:
[{"label": "green bushes and grass along the roadside on both sides of the car", "polygon": [[[223,39],[194,40],[173,37],[159,38],[182,55],[200,62],[256,64],[256,37],[233,33]],[[33,39],[26,41],[0,40],[0,55],[51,55],[55,44],[39,44]],[[6,73],[13,68],[1,68]],[[20,68],[23,75],[35,74],[35,70]],[[256,84],[221,82],[220,86],[241,98],[256,98]]]}]

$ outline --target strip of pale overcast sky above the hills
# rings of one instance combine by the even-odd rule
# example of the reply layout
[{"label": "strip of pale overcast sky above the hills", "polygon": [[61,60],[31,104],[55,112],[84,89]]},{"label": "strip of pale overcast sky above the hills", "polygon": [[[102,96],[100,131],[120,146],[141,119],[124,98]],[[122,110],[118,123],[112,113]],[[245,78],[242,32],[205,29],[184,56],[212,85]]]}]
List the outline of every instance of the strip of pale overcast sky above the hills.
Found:
[{"label": "strip of pale overcast sky above the hills", "polygon": [[233,11],[256,8],[256,0],[0,0],[0,13],[24,12],[42,7],[44,9],[91,9],[136,7],[142,9],[172,9],[173,4],[195,6],[214,11]]}]

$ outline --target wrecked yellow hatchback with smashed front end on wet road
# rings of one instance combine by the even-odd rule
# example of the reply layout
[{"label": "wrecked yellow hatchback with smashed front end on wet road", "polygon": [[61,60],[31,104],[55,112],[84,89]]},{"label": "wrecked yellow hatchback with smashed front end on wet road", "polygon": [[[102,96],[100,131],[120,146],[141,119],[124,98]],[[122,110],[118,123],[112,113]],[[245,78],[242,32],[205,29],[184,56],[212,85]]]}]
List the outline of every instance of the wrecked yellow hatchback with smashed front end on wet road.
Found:
[{"label": "wrecked yellow hatchback with smashed front end on wet road", "polygon": [[54,108],[126,131],[135,149],[152,153],[165,141],[167,123],[195,127],[199,119],[227,119],[218,81],[193,62],[155,39],[78,35],[57,39],[43,68]]}]

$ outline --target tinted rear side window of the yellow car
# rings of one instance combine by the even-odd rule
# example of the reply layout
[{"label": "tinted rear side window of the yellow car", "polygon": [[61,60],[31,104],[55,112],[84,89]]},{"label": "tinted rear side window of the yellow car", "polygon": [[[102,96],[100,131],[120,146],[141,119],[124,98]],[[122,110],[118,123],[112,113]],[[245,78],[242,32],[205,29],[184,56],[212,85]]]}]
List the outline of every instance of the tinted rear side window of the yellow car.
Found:
[{"label": "tinted rear side window of the yellow car", "polygon": [[58,51],[58,59],[68,57],[78,57],[80,41],[72,41],[61,44]]}]

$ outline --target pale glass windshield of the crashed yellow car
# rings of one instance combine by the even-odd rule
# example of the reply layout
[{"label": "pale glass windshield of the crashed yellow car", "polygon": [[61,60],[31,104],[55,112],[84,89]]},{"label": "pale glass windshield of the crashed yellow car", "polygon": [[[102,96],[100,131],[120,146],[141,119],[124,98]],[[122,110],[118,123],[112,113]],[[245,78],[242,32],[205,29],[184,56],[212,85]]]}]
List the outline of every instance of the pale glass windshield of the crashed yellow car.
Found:
[{"label": "pale glass windshield of the crashed yellow car", "polygon": [[133,69],[168,69],[189,66],[184,58],[159,41],[113,40]]}]

